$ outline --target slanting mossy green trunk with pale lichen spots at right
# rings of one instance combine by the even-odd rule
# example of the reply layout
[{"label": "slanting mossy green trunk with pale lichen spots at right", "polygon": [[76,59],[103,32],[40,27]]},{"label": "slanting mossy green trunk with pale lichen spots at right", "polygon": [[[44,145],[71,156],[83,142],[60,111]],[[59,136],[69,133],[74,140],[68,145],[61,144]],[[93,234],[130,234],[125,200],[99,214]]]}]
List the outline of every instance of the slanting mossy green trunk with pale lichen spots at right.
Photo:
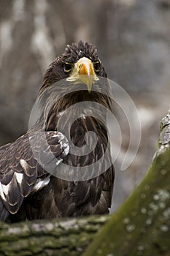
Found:
[{"label": "slanting mossy green trunk with pale lichen spots at right", "polygon": [[146,176],[83,256],[170,255],[170,111]]}]

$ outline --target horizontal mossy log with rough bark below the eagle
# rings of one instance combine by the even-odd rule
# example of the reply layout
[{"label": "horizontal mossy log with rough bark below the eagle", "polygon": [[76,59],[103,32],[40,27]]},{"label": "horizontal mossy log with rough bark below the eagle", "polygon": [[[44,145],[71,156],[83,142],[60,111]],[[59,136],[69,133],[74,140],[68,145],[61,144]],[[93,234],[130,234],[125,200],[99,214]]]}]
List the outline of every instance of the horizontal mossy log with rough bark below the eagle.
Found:
[{"label": "horizontal mossy log with rough bark below the eagle", "polygon": [[0,255],[82,255],[109,216],[6,224],[0,227]]}]

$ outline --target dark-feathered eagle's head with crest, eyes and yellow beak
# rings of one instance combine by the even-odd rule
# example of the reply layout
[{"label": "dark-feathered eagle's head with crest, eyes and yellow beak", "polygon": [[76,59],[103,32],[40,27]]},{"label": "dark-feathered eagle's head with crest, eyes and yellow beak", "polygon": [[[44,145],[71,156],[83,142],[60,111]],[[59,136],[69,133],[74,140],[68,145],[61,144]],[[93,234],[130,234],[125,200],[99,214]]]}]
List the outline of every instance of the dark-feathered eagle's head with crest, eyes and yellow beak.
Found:
[{"label": "dark-feathered eagle's head with crest, eyes and yellow beak", "polygon": [[67,45],[65,53],[58,56],[45,72],[40,91],[59,80],[66,79],[72,84],[85,84],[90,93],[98,77],[107,77],[104,67],[98,58],[97,49],[88,42]]}]

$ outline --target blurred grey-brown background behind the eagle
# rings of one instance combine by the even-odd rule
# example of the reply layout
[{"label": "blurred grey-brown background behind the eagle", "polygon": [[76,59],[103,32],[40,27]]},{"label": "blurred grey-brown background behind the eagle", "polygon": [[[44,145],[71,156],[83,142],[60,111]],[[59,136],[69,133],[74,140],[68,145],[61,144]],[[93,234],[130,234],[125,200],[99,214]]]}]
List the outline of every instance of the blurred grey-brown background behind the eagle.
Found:
[{"label": "blurred grey-brown background behind the eagle", "polygon": [[[133,164],[116,171],[115,211],[144,176],[170,107],[169,28],[170,0],[0,0],[0,145],[28,129],[42,75],[66,44],[93,43],[142,124]],[[119,122],[125,149],[128,124],[122,115]]]}]

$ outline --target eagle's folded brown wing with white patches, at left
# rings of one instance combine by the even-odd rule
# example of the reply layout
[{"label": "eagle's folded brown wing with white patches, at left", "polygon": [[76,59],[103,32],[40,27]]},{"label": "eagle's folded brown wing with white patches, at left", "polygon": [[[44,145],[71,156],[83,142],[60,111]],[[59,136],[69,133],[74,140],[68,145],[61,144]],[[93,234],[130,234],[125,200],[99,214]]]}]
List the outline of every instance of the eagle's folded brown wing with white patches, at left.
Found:
[{"label": "eagle's folded brown wing with white patches, at left", "polygon": [[[50,182],[45,162],[51,155],[54,156],[55,165],[58,165],[69,153],[69,142],[61,132],[43,132],[43,135],[45,138],[42,132],[26,133],[14,143],[0,148],[2,221],[7,219],[9,213],[15,214],[19,210],[24,197]],[[43,141],[45,139],[46,143]]]}]

